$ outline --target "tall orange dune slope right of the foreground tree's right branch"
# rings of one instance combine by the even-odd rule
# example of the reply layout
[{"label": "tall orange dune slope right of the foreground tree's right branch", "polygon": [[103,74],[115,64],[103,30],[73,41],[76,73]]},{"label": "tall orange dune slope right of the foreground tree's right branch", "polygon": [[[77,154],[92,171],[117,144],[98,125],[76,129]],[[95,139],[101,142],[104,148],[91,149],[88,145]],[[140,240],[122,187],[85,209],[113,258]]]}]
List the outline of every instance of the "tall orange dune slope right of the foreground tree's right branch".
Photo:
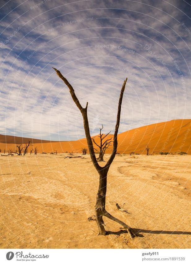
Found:
[{"label": "tall orange dune slope right of the foreground tree's right branch", "polygon": [[178,119],[129,130],[118,135],[118,151],[146,154],[162,152],[191,154],[191,119]]}]

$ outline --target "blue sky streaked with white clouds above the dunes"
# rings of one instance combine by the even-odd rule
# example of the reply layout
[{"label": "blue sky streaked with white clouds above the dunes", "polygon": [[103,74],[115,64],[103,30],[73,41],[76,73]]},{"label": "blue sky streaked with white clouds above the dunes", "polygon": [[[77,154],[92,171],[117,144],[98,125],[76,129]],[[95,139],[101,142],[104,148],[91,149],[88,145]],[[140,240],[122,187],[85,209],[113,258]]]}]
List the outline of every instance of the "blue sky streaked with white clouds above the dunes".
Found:
[{"label": "blue sky streaked with white clouds above the dunes", "polygon": [[0,134],[76,140],[81,113],[52,67],[89,102],[90,132],[191,113],[191,3],[184,0],[1,1]]}]

